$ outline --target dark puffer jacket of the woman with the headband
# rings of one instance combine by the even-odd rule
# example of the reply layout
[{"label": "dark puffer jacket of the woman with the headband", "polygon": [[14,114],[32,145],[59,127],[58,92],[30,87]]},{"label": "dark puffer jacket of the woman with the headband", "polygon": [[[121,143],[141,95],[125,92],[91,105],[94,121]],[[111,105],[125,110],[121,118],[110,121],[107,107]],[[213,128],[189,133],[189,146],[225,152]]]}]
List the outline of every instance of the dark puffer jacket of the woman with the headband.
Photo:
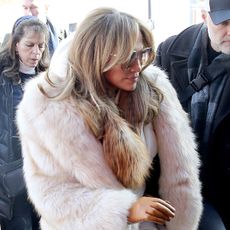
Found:
[{"label": "dark puffer jacket of the woman with the headband", "polygon": [[32,75],[20,73],[22,82],[19,84],[2,73],[3,67],[0,66],[0,70],[0,220],[10,220],[14,215],[15,199],[26,196],[15,111],[22,99],[23,79]]}]

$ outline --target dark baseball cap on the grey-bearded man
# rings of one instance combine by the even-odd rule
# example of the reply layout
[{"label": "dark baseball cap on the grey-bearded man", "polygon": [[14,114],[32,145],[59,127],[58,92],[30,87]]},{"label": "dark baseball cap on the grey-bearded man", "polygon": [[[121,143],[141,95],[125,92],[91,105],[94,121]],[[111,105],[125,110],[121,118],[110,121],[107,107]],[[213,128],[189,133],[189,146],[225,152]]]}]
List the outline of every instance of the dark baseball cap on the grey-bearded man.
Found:
[{"label": "dark baseball cap on the grey-bearded man", "polygon": [[209,15],[215,25],[230,20],[230,0],[209,0]]}]

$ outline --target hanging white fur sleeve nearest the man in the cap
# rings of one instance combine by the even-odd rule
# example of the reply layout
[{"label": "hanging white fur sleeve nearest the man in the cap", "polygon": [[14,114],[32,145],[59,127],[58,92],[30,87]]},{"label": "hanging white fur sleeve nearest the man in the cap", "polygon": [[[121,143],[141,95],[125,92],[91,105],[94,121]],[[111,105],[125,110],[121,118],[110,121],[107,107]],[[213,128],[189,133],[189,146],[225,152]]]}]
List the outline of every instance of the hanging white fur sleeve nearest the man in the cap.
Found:
[{"label": "hanging white fur sleeve nearest the man in the cap", "polygon": [[166,229],[196,230],[202,213],[202,197],[195,137],[165,73],[157,67],[150,67],[146,72],[164,95],[154,129],[161,162],[159,193],[176,209],[176,216],[167,223]]}]

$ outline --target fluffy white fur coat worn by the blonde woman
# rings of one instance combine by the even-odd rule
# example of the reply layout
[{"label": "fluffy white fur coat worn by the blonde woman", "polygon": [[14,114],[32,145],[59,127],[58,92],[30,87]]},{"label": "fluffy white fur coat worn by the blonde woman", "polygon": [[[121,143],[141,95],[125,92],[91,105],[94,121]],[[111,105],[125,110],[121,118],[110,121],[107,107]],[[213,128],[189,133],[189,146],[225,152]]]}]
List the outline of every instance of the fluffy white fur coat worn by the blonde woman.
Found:
[{"label": "fluffy white fur coat worn by the blonde woman", "polygon": [[[166,227],[196,230],[202,212],[199,159],[187,114],[166,75],[156,67],[146,73],[162,89],[164,100],[154,122],[161,160],[160,194],[176,208]],[[17,111],[29,198],[41,215],[42,230],[127,230],[127,215],[137,199],[124,188],[76,112],[71,98],[51,101],[30,80]],[[151,140],[150,140],[151,141]]]}]

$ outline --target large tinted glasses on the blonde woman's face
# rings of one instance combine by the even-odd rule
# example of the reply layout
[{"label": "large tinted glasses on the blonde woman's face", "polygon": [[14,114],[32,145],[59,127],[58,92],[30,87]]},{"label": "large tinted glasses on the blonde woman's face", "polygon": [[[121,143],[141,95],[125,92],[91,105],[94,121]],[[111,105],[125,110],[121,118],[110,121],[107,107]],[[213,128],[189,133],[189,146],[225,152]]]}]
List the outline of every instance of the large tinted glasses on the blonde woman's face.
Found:
[{"label": "large tinted glasses on the blonde woman's face", "polygon": [[152,54],[153,49],[151,47],[145,48],[140,51],[134,50],[130,56],[130,59],[125,64],[122,64],[122,67],[124,69],[129,69],[138,60],[141,65],[141,68],[143,68],[147,65],[148,60]]}]

